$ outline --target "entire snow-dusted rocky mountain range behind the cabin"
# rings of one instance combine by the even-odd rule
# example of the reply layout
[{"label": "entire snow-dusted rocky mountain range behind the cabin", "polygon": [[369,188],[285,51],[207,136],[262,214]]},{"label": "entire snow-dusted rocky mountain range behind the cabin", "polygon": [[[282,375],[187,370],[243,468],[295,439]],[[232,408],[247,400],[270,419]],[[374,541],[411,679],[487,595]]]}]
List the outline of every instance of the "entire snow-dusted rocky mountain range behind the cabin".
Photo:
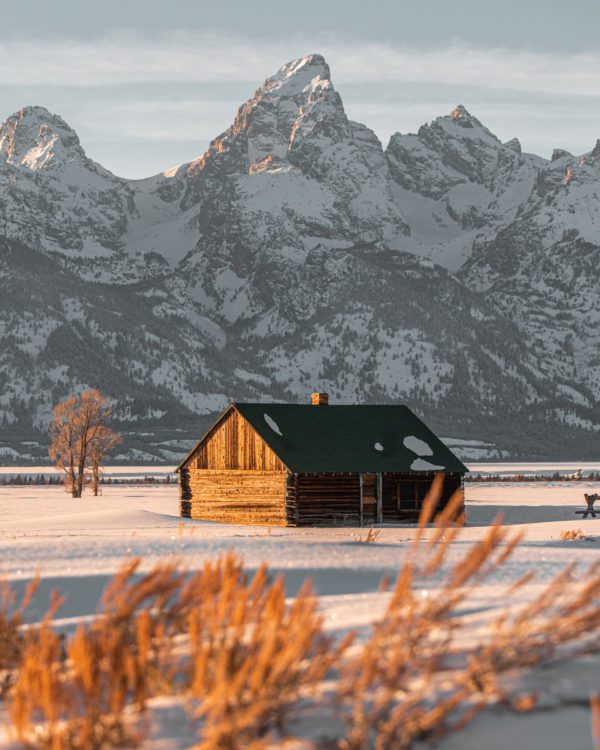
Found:
[{"label": "entire snow-dusted rocky mountain range behind the cabin", "polygon": [[463,107],[384,152],[318,55],[146,180],[23,110],[0,129],[0,460],[43,454],[51,405],[86,385],[135,460],[174,460],[228,399],[314,388],[406,401],[488,455],[581,456],[598,158],[523,154]]}]

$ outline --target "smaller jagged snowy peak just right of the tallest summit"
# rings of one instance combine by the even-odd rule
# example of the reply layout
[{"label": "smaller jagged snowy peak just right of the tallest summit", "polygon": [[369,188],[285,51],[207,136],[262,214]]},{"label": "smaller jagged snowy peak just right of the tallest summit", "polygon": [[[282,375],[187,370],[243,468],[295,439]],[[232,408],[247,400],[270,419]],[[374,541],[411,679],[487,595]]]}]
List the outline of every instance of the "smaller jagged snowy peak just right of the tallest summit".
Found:
[{"label": "smaller jagged snowy peak just right of the tallest summit", "polygon": [[407,249],[453,270],[514,220],[545,164],[460,105],[416,135],[393,135],[386,156],[412,230]]}]

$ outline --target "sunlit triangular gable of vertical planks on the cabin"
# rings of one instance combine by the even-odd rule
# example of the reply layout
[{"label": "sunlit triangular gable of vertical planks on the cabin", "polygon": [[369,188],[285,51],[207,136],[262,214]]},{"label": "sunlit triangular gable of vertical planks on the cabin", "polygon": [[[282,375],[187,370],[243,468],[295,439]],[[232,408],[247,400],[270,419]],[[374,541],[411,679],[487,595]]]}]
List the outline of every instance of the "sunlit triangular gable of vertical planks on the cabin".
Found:
[{"label": "sunlit triangular gable of vertical planks on the cabin", "polygon": [[285,466],[250,427],[231,409],[208,433],[187,462],[190,469],[247,469],[284,471]]}]

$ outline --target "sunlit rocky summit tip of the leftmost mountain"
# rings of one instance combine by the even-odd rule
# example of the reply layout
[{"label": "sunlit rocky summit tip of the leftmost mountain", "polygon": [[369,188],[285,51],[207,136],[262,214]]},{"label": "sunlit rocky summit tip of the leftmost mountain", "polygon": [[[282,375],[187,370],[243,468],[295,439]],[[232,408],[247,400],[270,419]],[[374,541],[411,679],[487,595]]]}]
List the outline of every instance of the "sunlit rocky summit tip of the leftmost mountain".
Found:
[{"label": "sunlit rocky summit tip of the leftmost mountain", "polygon": [[77,133],[45,107],[24,107],[0,127],[6,163],[32,171],[53,169],[68,159],[85,159]]}]

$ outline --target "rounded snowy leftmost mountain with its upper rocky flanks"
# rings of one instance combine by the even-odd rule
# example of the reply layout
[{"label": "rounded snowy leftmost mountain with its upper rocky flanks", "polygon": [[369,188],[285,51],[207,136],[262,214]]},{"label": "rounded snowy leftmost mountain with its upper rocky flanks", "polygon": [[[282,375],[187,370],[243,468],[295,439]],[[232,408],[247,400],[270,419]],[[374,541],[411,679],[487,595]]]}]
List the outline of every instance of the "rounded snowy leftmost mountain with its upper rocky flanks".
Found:
[{"label": "rounded snowy leftmost mountain with its upper rocky flanks", "polygon": [[85,155],[77,135],[43,107],[0,128],[0,228],[66,258],[118,256],[132,191]]}]

